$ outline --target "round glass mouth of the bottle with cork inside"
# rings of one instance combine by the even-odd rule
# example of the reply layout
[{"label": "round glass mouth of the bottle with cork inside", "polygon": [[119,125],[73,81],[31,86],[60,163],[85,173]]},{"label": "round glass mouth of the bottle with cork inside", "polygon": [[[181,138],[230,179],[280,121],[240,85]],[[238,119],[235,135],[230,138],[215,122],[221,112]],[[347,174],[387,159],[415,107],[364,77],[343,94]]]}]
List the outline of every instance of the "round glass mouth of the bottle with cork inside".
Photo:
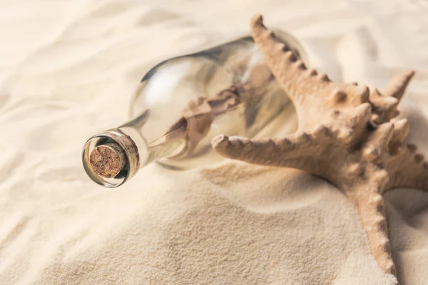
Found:
[{"label": "round glass mouth of the bottle with cork inside", "polygon": [[86,174],[103,187],[114,188],[133,177],[138,170],[136,144],[121,130],[107,130],[94,135],[83,147],[83,168]]}]

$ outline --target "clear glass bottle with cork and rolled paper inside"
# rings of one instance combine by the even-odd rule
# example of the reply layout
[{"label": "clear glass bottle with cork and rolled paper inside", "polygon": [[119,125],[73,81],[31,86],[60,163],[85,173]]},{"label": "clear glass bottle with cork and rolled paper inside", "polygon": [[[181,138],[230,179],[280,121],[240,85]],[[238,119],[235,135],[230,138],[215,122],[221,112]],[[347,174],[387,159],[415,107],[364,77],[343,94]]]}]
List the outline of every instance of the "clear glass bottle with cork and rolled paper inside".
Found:
[{"label": "clear glass bottle with cork and rolled paper inside", "polygon": [[[307,64],[297,40],[274,31]],[[222,159],[211,147],[216,135],[251,138],[289,103],[251,36],[170,58],[143,76],[131,120],[86,142],[83,167],[99,185],[118,187],[151,162],[211,165]]]}]

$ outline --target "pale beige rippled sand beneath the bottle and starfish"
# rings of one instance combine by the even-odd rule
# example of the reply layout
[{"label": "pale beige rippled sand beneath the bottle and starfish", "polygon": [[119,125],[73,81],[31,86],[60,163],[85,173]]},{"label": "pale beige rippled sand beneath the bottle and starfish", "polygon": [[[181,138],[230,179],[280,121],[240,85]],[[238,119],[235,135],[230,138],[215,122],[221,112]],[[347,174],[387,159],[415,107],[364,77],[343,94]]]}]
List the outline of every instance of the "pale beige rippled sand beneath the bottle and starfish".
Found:
[{"label": "pale beige rippled sand beneath the bottle and starfish", "polygon": [[[352,204],[304,172],[152,165],[115,190],[86,177],[83,143],[127,119],[148,68],[247,33],[255,13],[335,81],[414,68],[402,111],[428,155],[426,1],[214,3],[0,4],[0,284],[394,284]],[[387,193],[387,217],[401,284],[427,284],[428,195]]]}]

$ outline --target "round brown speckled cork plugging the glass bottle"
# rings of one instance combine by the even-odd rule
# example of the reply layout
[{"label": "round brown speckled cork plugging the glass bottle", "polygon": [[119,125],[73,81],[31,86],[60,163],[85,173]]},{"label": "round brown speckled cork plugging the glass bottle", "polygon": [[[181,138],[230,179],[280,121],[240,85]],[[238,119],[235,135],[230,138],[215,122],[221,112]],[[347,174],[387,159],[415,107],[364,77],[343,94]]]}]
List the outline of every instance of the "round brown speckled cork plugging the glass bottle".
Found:
[{"label": "round brown speckled cork plugging the glass bottle", "polygon": [[123,161],[122,152],[109,145],[95,147],[89,156],[93,172],[104,178],[118,175],[121,172]]}]

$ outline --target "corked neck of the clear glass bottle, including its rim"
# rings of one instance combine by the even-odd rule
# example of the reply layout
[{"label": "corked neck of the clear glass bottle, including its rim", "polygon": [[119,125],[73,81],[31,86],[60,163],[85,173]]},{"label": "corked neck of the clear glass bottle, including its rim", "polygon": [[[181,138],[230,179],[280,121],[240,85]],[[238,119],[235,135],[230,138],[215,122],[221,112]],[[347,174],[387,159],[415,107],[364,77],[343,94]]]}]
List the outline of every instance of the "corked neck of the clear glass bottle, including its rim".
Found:
[{"label": "corked neck of the clear glass bottle, including its rim", "polygon": [[180,152],[185,145],[185,128],[146,142],[138,125],[144,114],[118,128],[94,135],[83,147],[83,167],[87,175],[104,187],[118,187],[141,167]]}]

